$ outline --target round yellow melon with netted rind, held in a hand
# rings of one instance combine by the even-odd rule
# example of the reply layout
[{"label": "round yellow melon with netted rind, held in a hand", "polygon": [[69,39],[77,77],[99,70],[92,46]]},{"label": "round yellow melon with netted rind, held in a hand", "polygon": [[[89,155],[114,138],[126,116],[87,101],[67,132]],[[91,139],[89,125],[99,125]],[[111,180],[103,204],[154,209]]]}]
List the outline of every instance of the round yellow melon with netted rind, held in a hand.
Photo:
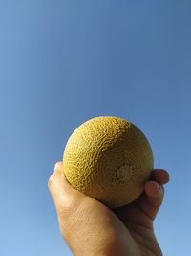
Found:
[{"label": "round yellow melon with netted rind, held in a hand", "polygon": [[137,199],[153,170],[150,144],[132,123],[96,117],[76,128],[63,155],[63,172],[83,194],[110,208]]}]

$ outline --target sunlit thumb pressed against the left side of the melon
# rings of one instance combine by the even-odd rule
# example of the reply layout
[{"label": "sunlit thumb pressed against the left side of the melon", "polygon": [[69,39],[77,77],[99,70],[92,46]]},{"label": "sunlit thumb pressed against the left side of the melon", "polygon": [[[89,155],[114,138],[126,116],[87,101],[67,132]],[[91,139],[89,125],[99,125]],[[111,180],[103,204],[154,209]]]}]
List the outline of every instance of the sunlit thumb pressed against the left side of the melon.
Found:
[{"label": "sunlit thumb pressed against the left side of the melon", "polygon": [[85,197],[76,191],[67,181],[62,162],[57,162],[54,166],[53,175],[51,175],[48,187],[53,197],[57,212],[72,208],[71,205],[79,202],[80,198]]}]

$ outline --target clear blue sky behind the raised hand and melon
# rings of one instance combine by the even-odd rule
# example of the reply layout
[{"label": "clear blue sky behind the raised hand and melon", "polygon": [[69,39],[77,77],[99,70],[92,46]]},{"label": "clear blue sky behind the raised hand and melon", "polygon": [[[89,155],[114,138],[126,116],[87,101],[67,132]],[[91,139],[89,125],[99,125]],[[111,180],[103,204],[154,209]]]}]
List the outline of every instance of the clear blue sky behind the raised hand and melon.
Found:
[{"label": "clear blue sky behind the raised hand and melon", "polygon": [[0,1],[0,255],[72,255],[47,189],[78,125],[116,115],[170,172],[155,222],[165,256],[188,255],[191,2]]}]

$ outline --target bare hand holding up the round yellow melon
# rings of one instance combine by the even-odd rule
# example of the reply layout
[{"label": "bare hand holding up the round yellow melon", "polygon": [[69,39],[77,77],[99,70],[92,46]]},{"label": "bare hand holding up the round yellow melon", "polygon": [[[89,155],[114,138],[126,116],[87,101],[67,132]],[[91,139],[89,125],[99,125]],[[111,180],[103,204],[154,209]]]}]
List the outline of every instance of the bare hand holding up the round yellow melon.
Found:
[{"label": "bare hand holding up the round yellow melon", "polygon": [[144,192],[133,203],[109,209],[76,191],[54,166],[48,183],[61,234],[75,256],[161,256],[153,221],[169,181],[165,170],[153,170]]}]

